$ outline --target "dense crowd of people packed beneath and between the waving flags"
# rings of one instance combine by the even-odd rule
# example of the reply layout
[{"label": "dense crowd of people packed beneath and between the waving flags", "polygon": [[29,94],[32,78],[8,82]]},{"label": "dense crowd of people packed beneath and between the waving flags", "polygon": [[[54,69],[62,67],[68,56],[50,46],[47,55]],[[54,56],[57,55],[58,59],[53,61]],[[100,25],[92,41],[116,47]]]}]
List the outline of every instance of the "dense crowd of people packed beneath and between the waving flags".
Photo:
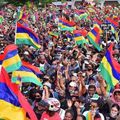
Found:
[{"label": "dense crowd of people packed beneath and between the waving flags", "polygon": [[[90,7],[88,7],[90,6]],[[89,8],[89,9],[88,9]],[[75,9],[86,10],[88,17],[79,20]],[[59,18],[74,21],[77,30],[89,32],[95,18],[104,23],[106,17],[120,22],[120,6],[92,6],[78,4],[74,9],[48,5],[46,8],[32,6],[0,8],[3,21],[0,24],[0,53],[5,46],[14,43],[17,13],[24,11],[19,22],[31,28],[39,37],[41,48],[19,45],[22,60],[37,66],[42,74],[43,87],[22,83],[22,93],[31,104],[39,120],[120,120],[120,84],[110,92],[99,73],[99,65],[107,48],[114,44],[114,58],[120,63],[120,25],[115,32],[102,29],[101,47],[92,44],[77,45],[71,31],[58,28]],[[57,33],[57,36],[49,32]]]}]

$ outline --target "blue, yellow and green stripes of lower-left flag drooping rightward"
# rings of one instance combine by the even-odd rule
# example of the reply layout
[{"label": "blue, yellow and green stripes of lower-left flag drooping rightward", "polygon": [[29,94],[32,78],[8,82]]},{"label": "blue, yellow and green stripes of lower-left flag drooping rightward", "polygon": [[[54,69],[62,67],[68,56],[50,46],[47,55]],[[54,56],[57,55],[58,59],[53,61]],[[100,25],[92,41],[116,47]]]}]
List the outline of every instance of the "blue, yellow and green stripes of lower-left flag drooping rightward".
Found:
[{"label": "blue, yellow and green stripes of lower-left flag drooping rightward", "polygon": [[38,86],[42,86],[40,79],[33,73],[33,71],[24,65],[22,65],[19,70],[12,73],[12,82],[19,83],[19,79],[22,82],[32,82]]}]

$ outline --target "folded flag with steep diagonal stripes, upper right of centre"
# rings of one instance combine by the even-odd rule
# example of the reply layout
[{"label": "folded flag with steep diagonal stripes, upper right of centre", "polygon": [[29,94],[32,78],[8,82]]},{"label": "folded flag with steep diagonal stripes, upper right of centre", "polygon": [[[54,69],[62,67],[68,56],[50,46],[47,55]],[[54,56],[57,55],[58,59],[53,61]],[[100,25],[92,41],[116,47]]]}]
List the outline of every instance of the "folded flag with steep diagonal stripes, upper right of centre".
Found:
[{"label": "folded flag with steep diagonal stripes, upper right of centre", "polygon": [[99,46],[100,44],[100,28],[99,27],[95,26],[90,32],[88,32],[87,38],[90,41],[90,43],[93,44],[98,51],[101,51],[101,48]]}]

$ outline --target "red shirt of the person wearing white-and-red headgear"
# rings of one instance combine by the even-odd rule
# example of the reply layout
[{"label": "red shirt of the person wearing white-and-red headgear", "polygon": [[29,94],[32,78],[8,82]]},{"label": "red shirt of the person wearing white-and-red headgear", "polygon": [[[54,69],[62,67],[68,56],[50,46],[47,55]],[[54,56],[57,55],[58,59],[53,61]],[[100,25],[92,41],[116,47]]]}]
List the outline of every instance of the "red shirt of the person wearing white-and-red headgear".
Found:
[{"label": "red shirt of the person wearing white-and-red headgear", "polygon": [[61,119],[57,112],[52,117],[50,117],[46,112],[44,112],[40,120],[61,120]]}]

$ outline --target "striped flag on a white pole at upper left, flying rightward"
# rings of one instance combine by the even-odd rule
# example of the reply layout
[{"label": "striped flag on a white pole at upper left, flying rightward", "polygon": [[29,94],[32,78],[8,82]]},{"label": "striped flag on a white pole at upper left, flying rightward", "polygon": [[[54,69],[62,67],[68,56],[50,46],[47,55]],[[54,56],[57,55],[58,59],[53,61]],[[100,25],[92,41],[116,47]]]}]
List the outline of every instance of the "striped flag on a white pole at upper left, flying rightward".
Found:
[{"label": "striped flag on a white pole at upper left, flying rightward", "polygon": [[34,48],[40,48],[38,36],[30,29],[17,23],[15,33],[15,44],[27,44]]}]

